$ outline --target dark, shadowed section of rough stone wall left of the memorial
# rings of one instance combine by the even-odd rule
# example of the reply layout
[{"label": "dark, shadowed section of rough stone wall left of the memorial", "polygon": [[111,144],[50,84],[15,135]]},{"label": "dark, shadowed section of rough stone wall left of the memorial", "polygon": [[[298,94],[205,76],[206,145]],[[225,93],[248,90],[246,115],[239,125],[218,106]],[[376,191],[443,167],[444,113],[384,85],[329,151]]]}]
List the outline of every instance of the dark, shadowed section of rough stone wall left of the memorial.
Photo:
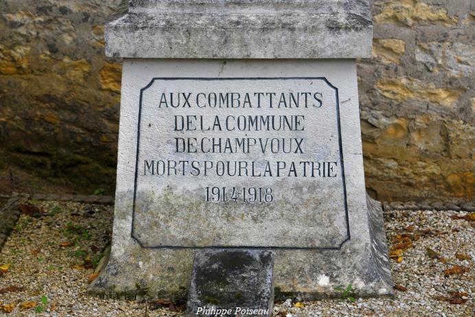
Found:
[{"label": "dark, shadowed section of rough stone wall left of the memorial", "polygon": [[0,191],[113,191],[121,67],[104,21],[121,3],[0,0]]}]

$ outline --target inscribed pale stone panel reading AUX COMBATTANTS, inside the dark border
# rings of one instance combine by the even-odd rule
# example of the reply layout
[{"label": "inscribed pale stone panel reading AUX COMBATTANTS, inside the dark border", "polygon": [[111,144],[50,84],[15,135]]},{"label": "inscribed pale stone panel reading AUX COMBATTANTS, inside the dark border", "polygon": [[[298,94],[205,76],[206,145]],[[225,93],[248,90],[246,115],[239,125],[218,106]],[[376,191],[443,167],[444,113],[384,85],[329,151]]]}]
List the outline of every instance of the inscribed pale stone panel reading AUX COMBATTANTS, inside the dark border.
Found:
[{"label": "inscribed pale stone panel reading AUX COMBATTANTS, inside the dark border", "polygon": [[132,234],[144,247],[349,239],[338,88],[327,78],[157,77],[138,107]]}]

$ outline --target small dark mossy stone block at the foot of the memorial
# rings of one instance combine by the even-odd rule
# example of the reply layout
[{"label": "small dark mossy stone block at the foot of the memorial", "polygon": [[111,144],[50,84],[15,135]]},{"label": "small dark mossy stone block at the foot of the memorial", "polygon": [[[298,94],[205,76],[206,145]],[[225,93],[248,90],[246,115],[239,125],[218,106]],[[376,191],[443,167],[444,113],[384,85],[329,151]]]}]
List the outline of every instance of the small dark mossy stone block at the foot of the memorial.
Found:
[{"label": "small dark mossy stone block at the foot of the memorial", "polygon": [[[186,312],[214,316],[270,316],[274,305],[274,252],[269,250],[197,250]],[[246,314],[257,309],[257,314]]]}]

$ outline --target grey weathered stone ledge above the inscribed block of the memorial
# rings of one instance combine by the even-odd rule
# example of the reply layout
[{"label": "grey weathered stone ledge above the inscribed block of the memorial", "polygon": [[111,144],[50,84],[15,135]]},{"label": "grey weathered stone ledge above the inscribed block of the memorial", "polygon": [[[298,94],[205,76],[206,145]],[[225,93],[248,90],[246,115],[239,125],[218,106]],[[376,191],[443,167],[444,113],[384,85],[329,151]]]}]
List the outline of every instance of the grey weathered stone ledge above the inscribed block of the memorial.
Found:
[{"label": "grey weathered stone ledge above the inscribed block of the memorial", "polygon": [[372,22],[362,0],[138,0],[105,39],[126,58],[356,58]]}]

